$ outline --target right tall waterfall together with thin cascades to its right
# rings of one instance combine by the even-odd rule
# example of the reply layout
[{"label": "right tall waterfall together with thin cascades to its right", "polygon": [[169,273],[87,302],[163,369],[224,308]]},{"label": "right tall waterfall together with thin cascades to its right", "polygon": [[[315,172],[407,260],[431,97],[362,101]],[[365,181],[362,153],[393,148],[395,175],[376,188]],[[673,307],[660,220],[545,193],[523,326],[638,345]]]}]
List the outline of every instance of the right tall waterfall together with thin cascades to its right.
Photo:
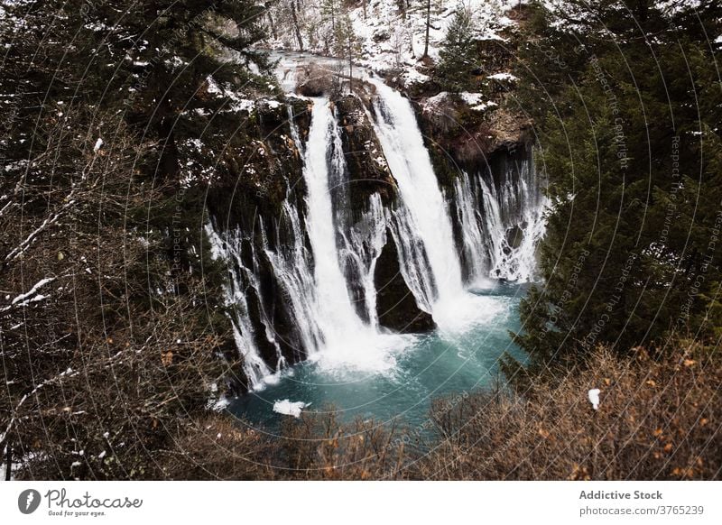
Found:
[{"label": "right tall waterfall together with thin cascades to its right", "polygon": [[[486,299],[468,288],[489,277],[532,279],[543,206],[532,180],[531,155],[519,165],[504,162],[498,190],[486,183],[485,177],[493,179],[490,171],[477,173],[474,180],[461,172],[449,198],[440,190],[411,102],[379,79],[369,82],[377,94],[375,132],[401,198],[392,231],[404,278],[419,306],[430,311],[442,330],[464,331],[484,322],[490,311]],[[454,211],[460,246],[453,234]]]}]

